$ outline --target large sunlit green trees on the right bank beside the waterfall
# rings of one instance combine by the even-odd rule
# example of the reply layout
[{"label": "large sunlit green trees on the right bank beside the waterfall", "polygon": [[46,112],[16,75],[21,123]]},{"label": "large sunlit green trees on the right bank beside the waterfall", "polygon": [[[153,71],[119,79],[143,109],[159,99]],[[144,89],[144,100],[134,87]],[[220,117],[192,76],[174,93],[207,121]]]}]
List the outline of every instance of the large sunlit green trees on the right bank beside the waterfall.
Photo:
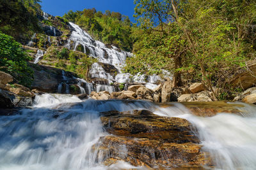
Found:
[{"label": "large sunlit green trees on the right bank beside the waterfall", "polygon": [[255,1],[135,3],[140,29],[133,32],[138,35],[136,55],[127,61],[126,71],[152,74],[167,69],[174,72],[174,86],[182,85],[181,76],[186,75],[201,77],[211,90],[228,89],[227,75],[255,59]]}]

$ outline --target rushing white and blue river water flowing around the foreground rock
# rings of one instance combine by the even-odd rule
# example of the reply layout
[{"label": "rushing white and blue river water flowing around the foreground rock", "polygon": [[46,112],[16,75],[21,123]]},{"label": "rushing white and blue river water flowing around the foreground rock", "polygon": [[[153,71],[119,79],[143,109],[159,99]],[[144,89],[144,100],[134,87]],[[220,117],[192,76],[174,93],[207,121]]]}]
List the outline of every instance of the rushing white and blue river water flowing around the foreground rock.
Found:
[{"label": "rushing white and blue river water flowing around the foreground rock", "polygon": [[[182,104],[160,108],[146,101],[81,101],[76,96],[36,96],[33,108],[0,117],[0,169],[121,169],[125,162],[105,167],[97,161],[104,132],[101,111],[147,109],[164,117],[186,118],[198,129],[203,150],[216,169],[256,169],[256,107],[244,114],[221,113],[196,117]],[[143,167],[138,167],[143,169]]]}]

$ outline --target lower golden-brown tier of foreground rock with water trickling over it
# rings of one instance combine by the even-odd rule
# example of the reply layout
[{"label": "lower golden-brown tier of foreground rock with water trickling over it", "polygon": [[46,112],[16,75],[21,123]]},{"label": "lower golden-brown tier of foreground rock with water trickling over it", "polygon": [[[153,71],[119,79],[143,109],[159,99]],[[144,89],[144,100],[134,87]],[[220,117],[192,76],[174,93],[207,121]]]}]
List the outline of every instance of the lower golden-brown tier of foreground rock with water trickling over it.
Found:
[{"label": "lower golden-brown tier of foreground rock with water trickling over it", "polygon": [[[145,138],[106,136],[100,138],[98,157],[109,166],[116,160],[124,160],[133,166],[153,169],[190,167],[203,169],[209,160],[201,153],[200,145],[194,143],[161,143]],[[108,157],[107,157],[108,155]]]}]

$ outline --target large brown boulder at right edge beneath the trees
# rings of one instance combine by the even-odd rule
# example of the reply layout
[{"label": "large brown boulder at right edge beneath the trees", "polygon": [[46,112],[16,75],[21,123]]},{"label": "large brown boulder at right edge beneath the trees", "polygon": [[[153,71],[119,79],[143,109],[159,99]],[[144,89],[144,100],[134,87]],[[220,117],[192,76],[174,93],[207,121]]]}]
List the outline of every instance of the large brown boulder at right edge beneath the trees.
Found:
[{"label": "large brown boulder at right edge beneath the trees", "polygon": [[238,69],[237,73],[232,76],[229,83],[232,87],[241,87],[246,90],[256,83],[256,60],[246,63],[247,69],[241,67]]}]

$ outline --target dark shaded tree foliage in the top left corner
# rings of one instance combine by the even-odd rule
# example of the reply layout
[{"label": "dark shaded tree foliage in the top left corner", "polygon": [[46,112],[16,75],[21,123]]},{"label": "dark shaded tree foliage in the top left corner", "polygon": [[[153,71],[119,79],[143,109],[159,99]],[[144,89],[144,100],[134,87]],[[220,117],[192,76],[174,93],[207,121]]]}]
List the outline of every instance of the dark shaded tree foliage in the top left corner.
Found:
[{"label": "dark shaded tree foliage in the top left corner", "polygon": [[37,15],[40,0],[1,0],[0,31],[15,39],[27,38],[29,32],[40,31]]}]

